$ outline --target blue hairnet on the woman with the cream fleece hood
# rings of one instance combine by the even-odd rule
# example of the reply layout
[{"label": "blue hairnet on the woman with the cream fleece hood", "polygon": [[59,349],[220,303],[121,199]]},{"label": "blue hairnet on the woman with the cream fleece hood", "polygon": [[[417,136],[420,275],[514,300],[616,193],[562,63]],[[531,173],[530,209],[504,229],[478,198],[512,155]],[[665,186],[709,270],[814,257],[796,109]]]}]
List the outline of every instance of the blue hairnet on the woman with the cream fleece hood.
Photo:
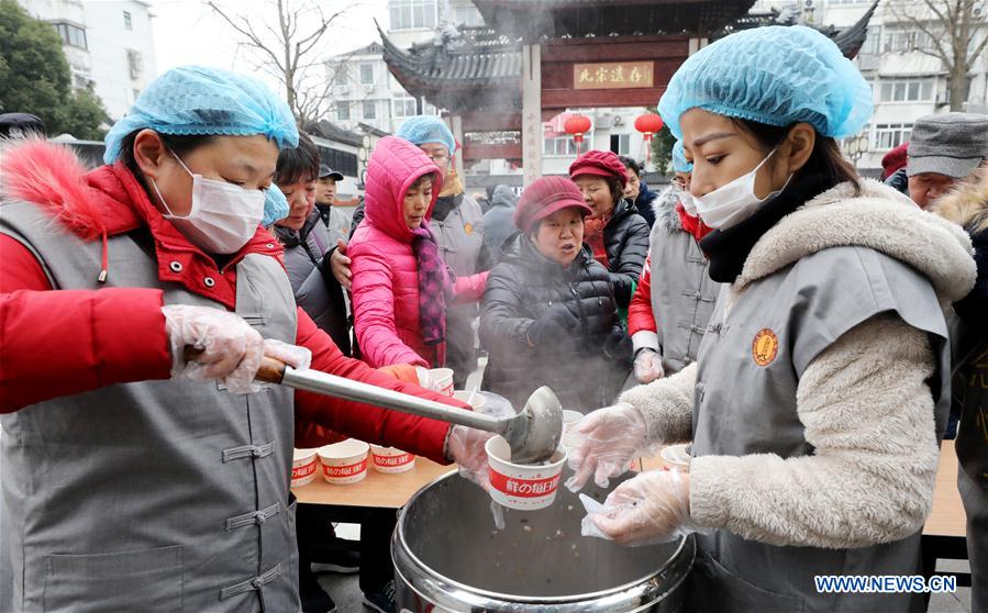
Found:
[{"label": "blue hairnet on the woman with the cream fleece hood", "polygon": [[771,25],[721,38],[679,67],[658,101],[676,138],[680,116],[693,108],[768,125],[807,122],[843,138],[864,127],[873,102],[833,41],[804,25]]}]

